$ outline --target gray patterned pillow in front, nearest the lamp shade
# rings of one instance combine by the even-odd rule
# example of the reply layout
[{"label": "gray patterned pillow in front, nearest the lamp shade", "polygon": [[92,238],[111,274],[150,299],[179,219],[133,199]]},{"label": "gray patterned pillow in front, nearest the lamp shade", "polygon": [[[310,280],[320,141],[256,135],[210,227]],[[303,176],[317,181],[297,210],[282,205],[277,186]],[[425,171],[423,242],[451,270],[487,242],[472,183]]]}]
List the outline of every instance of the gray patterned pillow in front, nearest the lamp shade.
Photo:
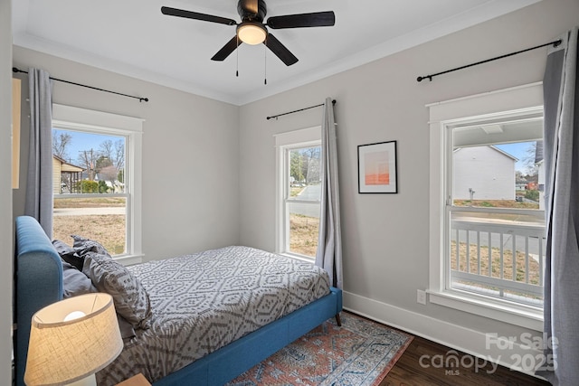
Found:
[{"label": "gray patterned pillow in front, nearest the lamp shade", "polygon": [[153,311],[145,287],[127,268],[107,255],[87,252],[82,272],[100,292],[108,293],[117,313],[135,328],[151,325]]}]

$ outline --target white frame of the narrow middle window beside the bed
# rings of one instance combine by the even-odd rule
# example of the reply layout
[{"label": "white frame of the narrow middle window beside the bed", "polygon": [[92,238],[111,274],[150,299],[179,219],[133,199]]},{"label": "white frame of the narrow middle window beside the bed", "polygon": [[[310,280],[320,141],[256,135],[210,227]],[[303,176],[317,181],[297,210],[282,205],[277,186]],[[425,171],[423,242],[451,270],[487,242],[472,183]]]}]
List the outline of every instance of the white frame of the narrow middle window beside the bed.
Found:
[{"label": "white frame of the narrow middle window beside the bed", "polygon": [[[277,134],[276,150],[276,216],[275,216],[275,252],[294,259],[314,262],[315,257],[289,251],[289,151],[308,146],[321,146],[321,126],[302,128]],[[323,171],[320,172],[320,174]]]}]

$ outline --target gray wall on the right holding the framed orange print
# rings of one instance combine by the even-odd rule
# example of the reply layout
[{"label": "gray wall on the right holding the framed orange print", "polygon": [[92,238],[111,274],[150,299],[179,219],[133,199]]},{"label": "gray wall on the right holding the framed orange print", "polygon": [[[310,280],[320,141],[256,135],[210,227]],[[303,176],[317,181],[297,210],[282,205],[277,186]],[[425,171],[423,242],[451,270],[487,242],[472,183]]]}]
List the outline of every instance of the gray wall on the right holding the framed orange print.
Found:
[{"label": "gray wall on the right holding the framed orange print", "polygon": [[[542,80],[546,49],[442,75],[432,82],[418,83],[416,78],[551,42],[579,22],[578,14],[576,0],[544,0],[459,33],[243,106],[240,112],[242,244],[274,249],[272,135],[319,125],[321,109],[279,120],[265,117],[316,105],[332,97],[337,99],[345,306],[455,346],[461,343],[449,339],[453,335],[451,329],[457,326],[462,327],[465,334],[468,331],[521,334],[515,325],[416,302],[416,290],[429,285],[429,112],[425,105]],[[398,193],[358,194],[356,146],[391,140],[398,141]],[[373,306],[359,308],[356,300],[360,297],[365,304]],[[397,319],[394,314],[406,315],[406,318]],[[448,331],[435,331],[440,325],[448,327]],[[484,353],[484,346],[478,344],[470,350]]]}]

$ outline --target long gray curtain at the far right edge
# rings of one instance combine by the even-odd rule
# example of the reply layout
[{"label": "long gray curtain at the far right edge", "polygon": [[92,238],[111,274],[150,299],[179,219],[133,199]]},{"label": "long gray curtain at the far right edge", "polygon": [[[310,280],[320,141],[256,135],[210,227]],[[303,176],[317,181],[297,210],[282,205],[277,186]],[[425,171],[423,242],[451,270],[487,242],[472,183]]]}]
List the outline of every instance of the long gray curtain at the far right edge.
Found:
[{"label": "long gray curtain at the far right edge", "polygon": [[537,374],[554,385],[579,384],[579,95],[577,28],[550,49],[545,98],[545,342]]}]

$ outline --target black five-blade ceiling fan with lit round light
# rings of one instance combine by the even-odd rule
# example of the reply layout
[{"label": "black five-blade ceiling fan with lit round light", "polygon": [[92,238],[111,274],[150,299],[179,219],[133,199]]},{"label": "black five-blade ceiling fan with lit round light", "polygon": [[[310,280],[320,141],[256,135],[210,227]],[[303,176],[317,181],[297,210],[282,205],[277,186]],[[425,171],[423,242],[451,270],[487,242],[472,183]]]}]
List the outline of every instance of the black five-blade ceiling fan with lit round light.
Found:
[{"label": "black five-blade ceiling fan with lit round light", "polygon": [[233,19],[227,19],[211,14],[199,14],[197,12],[185,11],[183,9],[161,7],[161,13],[171,16],[185,17],[187,19],[202,20],[227,25],[236,25],[237,33],[232,40],[225,43],[223,48],[214,54],[212,61],[224,61],[237,47],[245,42],[247,44],[265,44],[287,66],[298,61],[298,58],[268,31],[282,28],[303,28],[303,27],[325,27],[336,23],[336,16],[333,11],[313,12],[309,14],[286,14],[283,16],[273,16],[263,22],[267,8],[264,0],[239,0],[237,13],[242,18],[241,23]]}]

